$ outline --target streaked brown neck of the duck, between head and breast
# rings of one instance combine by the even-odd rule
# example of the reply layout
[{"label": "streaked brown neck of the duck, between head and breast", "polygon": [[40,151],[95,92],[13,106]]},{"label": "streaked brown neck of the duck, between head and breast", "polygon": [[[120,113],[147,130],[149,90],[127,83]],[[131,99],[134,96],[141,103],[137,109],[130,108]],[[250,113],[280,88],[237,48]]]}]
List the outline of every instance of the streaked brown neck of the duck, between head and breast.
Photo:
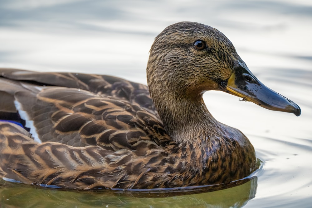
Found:
[{"label": "streaked brown neck of the duck, between head and breast", "polygon": [[[220,123],[209,113],[200,93],[182,88],[151,89],[151,96],[168,135],[179,144],[202,143],[218,135]],[[214,131],[214,132],[212,132]]]}]

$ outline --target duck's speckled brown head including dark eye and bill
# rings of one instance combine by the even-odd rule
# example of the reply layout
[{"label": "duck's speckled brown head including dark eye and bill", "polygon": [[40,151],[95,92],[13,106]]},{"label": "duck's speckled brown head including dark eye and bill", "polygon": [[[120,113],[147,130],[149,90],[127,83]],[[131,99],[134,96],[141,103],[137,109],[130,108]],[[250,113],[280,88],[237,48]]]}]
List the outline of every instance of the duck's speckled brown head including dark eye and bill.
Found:
[{"label": "duck's speckled brown head including dark eye and bill", "polygon": [[172,103],[197,99],[207,90],[222,90],[270,110],[301,113],[297,104],[251,73],[223,33],[200,23],[179,22],[156,37],[147,78],[154,102],[162,94],[174,97]]}]

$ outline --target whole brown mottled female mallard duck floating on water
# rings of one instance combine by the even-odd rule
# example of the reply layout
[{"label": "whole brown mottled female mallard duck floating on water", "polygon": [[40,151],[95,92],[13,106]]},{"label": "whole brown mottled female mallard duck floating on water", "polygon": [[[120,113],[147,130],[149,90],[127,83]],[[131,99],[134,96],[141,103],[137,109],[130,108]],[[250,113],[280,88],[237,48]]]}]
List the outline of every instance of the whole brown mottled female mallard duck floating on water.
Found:
[{"label": "whole brown mottled female mallard duck floating on water", "polygon": [[[216,29],[168,26],[155,39],[148,87],[105,75],[1,69],[0,175],[72,189],[229,183],[257,168],[253,146],[202,100],[222,90],[300,115],[258,81]],[[14,104],[15,105],[14,105]],[[29,132],[27,131],[29,130]]]}]

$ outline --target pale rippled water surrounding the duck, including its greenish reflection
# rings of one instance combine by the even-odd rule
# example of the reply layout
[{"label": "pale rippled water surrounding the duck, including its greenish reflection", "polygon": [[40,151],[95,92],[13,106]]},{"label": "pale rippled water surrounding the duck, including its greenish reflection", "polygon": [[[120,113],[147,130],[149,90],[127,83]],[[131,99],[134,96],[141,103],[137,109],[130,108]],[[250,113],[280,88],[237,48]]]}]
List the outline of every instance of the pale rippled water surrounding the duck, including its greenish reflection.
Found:
[{"label": "pale rippled water surrounding the duck, including its greenish reflection", "polygon": [[222,31],[262,83],[301,107],[296,117],[223,92],[205,93],[212,115],[251,140],[263,161],[256,176],[225,190],[175,196],[63,191],[1,181],[1,206],[310,207],[311,1],[2,0],[0,67],[110,74],[146,83],[154,37],[178,21]]}]

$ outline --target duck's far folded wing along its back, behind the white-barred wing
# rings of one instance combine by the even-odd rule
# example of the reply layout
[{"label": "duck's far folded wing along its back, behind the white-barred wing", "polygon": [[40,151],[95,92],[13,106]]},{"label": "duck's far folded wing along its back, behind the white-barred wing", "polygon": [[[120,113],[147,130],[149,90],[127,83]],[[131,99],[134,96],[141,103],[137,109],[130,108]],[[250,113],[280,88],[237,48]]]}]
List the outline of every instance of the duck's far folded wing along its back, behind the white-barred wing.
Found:
[{"label": "duck's far folded wing along its back, behind the white-barred wing", "polygon": [[97,74],[41,73],[22,69],[0,68],[0,77],[35,83],[38,86],[72,87],[97,94],[109,95],[148,109],[158,115],[146,85],[128,80]]}]

